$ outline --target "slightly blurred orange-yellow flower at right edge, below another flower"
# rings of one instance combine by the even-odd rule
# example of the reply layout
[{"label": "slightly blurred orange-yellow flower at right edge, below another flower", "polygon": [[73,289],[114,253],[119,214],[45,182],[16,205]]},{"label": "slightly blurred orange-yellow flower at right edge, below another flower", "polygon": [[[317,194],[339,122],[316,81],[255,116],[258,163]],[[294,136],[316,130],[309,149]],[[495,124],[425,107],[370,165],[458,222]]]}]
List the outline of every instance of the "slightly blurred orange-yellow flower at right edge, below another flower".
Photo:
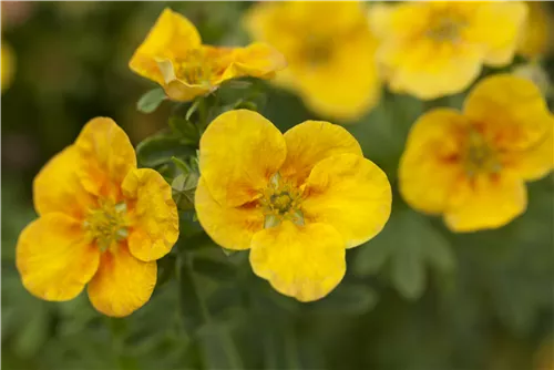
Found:
[{"label": "slightly blurred orange-yellow flower at right edge, below another flower", "polygon": [[554,116],[529,80],[480,82],[463,113],[421,116],[400,161],[400,192],[414,208],[442,214],[454,232],[501,227],[525,212],[525,181],[554,164]]}]

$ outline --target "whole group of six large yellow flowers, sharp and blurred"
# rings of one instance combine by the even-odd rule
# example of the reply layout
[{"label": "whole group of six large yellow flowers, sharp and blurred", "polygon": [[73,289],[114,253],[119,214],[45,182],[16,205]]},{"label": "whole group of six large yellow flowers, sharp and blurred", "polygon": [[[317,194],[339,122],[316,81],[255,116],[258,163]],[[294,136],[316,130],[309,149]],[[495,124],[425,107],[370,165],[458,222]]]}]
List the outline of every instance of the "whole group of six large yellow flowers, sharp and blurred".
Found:
[{"label": "whole group of six large yellow flowers, sharp and blurred", "polygon": [[[247,16],[253,34],[268,43],[216,48],[166,9],[130,66],[174,101],[235,78],[275,76],[314,110],[353,117],[377,103],[380,79],[392,91],[432,99],[469,86],[483,63],[510,63],[525,14],[520,1],[406,2],[372,8],[373,32],[355,1],[271,1]],[[454,232],[505,225],[525,210],[524,182],[554,165],[553,129],[531,81],[484,79],[463,112],[437,109],[416,122],[400,192]],[[255,274],[300,301],[329,294],[345,275],[346,249],[370,240],[390,216],[387,175],[329,122],[281,134],[256,112],[228,111],[203,133],[198,163],[194,203],[205,232],[227,249],[249,249]],[[116,317],[150,299],[156,260],[178,238],[177,208],[157,172],[136,168],[133,146],[112,120],[89,122],[44,166],[34,205],[40,217],[17,247],[29,291],[68,300],[88,284],[92,305]]]}]

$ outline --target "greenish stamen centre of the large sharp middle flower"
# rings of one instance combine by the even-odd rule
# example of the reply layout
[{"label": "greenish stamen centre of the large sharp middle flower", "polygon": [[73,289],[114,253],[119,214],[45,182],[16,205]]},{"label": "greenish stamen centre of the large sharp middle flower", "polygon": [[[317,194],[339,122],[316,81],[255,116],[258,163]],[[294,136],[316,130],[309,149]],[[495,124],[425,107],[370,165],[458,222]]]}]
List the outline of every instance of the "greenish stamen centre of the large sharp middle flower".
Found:
[{"label": "greenish stamen centre of the large sharp middle flower", "polygon": [[259,201],[266,216],[265,227],[276,226],[284,219],[304,225],[304,215],[300,210],[301,201],[301,191],[283,181],[279,174],[275,174]]}]

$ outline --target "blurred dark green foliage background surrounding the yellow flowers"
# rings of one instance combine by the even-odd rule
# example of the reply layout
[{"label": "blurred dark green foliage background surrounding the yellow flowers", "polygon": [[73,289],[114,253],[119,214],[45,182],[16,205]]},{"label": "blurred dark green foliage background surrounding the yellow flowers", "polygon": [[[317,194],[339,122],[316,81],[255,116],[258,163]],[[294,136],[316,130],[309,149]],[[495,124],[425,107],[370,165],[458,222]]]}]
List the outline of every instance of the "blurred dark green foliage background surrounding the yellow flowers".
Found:
[{"label": "blurred dark green foliage background surrounding the yellow flowers", "polygon": [[[428,103],[388,92],[347,130],[387,172],[393,214],[347,254],[347,277],[321,301],[279,296],[253,275],[246,253],[209,248],[192,219],[182,227],[195,250],[192,276],[177,285],[162,261],[153,299],[129,318],[102,317],[85,294],[52,304],[27,292],[14,246],[35,217],[40,167],[94,116],[113,117],[134,144],[167,125],[168,104],[136,110],[154,85],[127,68],[166,6],[205,43],[248,42],[237,21],[245,0],[1,0],[2,72],[10,70],[0,95],[1,369],[554,369],[554,177],[529,185],[529,209],[510,225],[449,233],[410,210],[394,186],[408,131]],[[552,55],[543,65],[552,80]],[[264,91],[259,110],[283,131],[317,119],[296,95]],[[463,97],[441,102],[459,107]]]}]

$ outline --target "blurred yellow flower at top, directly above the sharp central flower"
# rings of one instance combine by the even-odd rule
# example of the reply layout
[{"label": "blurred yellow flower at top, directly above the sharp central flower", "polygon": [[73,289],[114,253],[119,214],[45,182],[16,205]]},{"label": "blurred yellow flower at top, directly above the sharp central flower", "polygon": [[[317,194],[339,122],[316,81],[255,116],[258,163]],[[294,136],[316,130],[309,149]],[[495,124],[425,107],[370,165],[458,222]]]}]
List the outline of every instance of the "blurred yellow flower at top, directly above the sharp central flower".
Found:
[{"label": "blurred yellow flower at top, directly above the sharp central flower", "polygon": [[287,59],[275,82],[315,112],[351,121],[379,102],[377,41],[363,1],[259,1],[245,21],[253,38]]}]

